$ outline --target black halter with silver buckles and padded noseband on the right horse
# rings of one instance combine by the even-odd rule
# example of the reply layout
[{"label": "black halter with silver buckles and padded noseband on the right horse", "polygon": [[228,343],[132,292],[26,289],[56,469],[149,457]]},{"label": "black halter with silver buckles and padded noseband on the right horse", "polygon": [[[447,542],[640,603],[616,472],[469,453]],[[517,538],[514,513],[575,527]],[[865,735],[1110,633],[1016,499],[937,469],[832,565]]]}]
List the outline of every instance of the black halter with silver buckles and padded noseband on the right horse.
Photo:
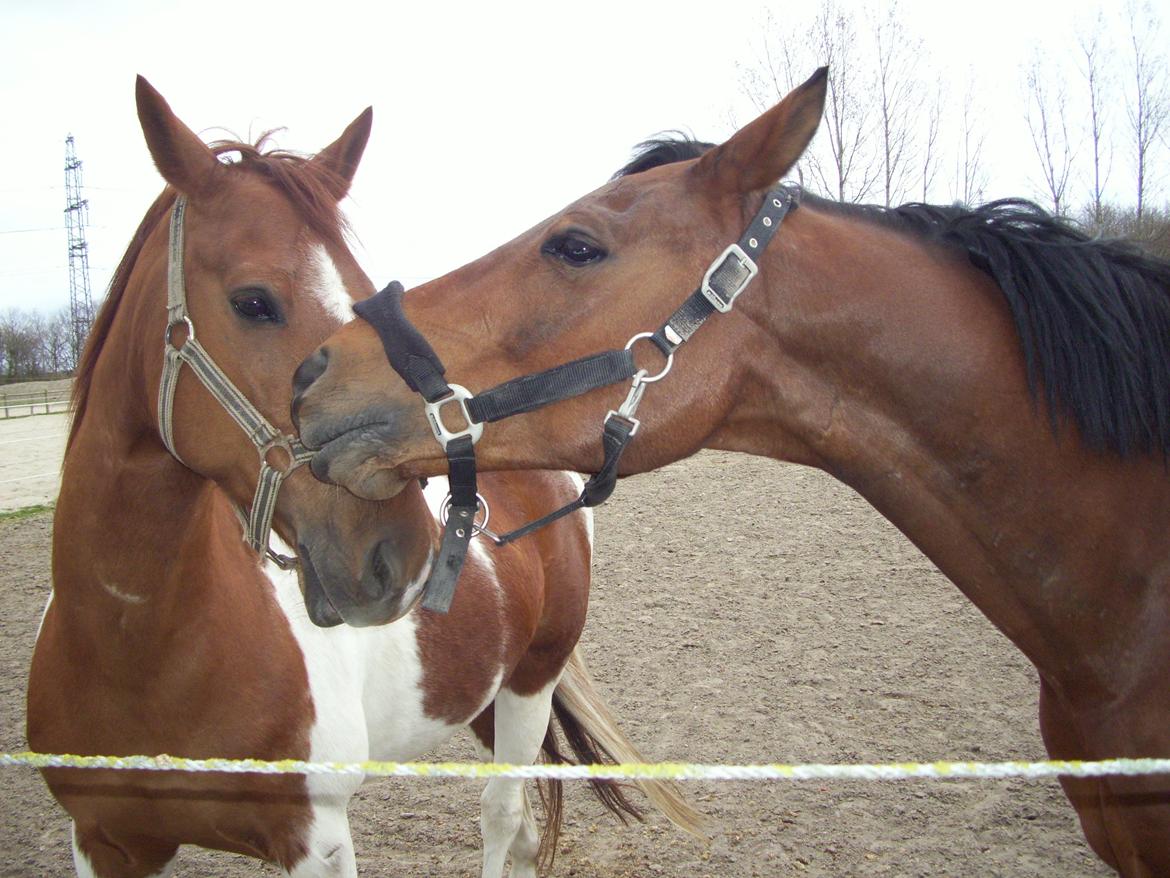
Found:
[{"label": "black halter with silver buckles and padded noseband on the right horse", "polygon": [[[758,258],[779,229],[787,212],[798,204],[799,190],[778,185],[764,196],[764,204],[738,241],[728,247],[710,265],[702,283],[654,332],[639,332],[622,350],[594,354],[571,363],[504,382],[481,393],[472,393],[459,384],[448,384],[446,368],[422,334],[406,318],[402,310],[402,284],[392,281],[384,290],[353,306],[355,313],[378,332],[383,349],[394,371],[411,390],[421,395],[427,406],[427,420],[435,439],[443,447],[450,469],[450,494],[446,502],[443,537],[439,557],[424,587],[422,606],[447,612],[455,596],[455,585],[475,534],[484,534],[497,546],[531,534],[557,519],[583,507],[599,506],[613,493],[618,479],[618,461],[626,445],[641,425],[634,413],[646,387],[661,380],[674,364],[674,352],[713,314],[731,310],[736,297],[756,276]],[[649,375],[634,364],[633,347],[648,339],[667,357],[658,375]],[[487,421],[523,414],[562,399],[591,390],[631,380],[625,402],[605,417],[601,445],[605,453],[601,468],[585,482],[573,502],[556,509],[511,533],[498,535],[488,530],[487,503],[476,493],[475,443]],[[452,431],[442,420],[446,405],[459,405],[467,421],[463,430]],[[476,522],[480,507],[484,520]]]}]

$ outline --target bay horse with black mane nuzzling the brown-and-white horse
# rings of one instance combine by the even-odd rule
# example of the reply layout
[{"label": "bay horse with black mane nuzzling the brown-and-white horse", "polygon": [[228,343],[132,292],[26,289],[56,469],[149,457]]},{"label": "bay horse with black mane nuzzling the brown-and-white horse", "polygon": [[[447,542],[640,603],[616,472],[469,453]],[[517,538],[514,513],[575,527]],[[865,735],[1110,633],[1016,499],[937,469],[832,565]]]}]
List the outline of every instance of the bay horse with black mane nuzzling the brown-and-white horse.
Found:
[{"label": "bay horse with black mane nuzzling the brown-and-white horse", "polygon": [[[693,328],[670,337],[663,321],[775,198],[787,215],[758,276],[644,385],[620,472],[700,448],[828,472],[1035,665],[1053,757],[1170,756],[1170,265],[1026,203],[889,210],[775,190],[817,131],[826,76],[412,290],[406,317],[473,395],[656,328],[635,355],[658,372]],[[379,498],[443,471],[369,323],[328,339],[298,389],[318,475]],[[480,465],[597,472],[620,399],[596,389],[487,424]],[[745,514],[769,539],[769,509]],[[1061,783],[1106,863],[1170,874],[1170,778]]]}]

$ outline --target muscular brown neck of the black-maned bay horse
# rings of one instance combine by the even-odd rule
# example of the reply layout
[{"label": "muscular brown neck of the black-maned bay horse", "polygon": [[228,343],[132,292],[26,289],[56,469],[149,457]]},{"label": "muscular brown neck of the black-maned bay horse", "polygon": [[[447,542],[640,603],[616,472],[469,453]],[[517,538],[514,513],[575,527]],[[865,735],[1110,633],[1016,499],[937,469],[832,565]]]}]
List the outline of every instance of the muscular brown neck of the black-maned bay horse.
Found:
[{"label": "muscular brown neck of the black-maned bay horse", "polygon": [[[1109,513],[1155,507],[1161,479],[1054,435],[998,287],[962,254],[806,207],[772,247],[763,295],[741,300],[743,397],[711,444],[853,487],[1053,679],[1085,660],[1073,638],[1121,639],[1071,625],[1068,605],[1116,606],[1106,591],[1136,571]],[[1094,581],[1080,571],[1101,547],[1119,560]]]}]

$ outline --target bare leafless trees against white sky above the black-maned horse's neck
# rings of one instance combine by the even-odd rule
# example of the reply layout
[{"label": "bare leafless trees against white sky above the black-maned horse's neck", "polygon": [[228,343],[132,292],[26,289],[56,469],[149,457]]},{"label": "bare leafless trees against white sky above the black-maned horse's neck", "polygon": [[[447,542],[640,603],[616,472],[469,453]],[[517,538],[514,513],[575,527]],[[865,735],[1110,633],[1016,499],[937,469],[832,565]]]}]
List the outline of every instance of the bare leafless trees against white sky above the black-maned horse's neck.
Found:
[{"label": "bare leafless trees against white sky above the black-maned horse's neck", "polygon": [[[1108,11],[1106,11],[1108,9]],[[785,11],[742,69],[758,109],[830,66],[825,118],[793,173],[840,201],[978,204],[989,198],[987,138],[997,118],[978,75],[949,81],[896,2],[823,0],[803,21]],[[1019,116],[1031,137],[1031,196],[1093,233],[1170,258],[1170,212],[1154,204],[1170,155],[1170,63],[1154,7],[1103,7],[1019,67]],[[990,100],[1000,109],[1010,95]],[[1003,169],[999,169],[1000,172]]]}]

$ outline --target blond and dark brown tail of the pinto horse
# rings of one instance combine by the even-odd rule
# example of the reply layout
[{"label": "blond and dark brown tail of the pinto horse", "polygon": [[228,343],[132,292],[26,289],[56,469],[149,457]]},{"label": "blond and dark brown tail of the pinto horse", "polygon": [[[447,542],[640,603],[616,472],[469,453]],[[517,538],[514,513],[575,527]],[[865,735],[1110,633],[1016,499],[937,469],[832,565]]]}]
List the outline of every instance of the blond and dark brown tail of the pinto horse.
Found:
[{"label": "blond and dark brown tail of the pinto horse", "polygon": [[[578,764],[645,762],[593,685],[579,646],[573,647],[560,682],[552,694],[552,715]],[[559,750],[551,722],[544,738],[544,753],[550,762],[569,762]],[[703,842],[709,841],[703,831],[703,816],[687,803],[677,784],[669,781],[635,781],[635,784],[672,823]],[[617,781],[590,780],[590,787],[601,804],[622,823],[628,823],[631,817],[642,819],[641,810],[626,798],[622,784]],[[562,795],[560,781],[550,781],[541,788],[546,815],[539,853],[543,866],[551,866],[556,856],[560,835]]]}]

